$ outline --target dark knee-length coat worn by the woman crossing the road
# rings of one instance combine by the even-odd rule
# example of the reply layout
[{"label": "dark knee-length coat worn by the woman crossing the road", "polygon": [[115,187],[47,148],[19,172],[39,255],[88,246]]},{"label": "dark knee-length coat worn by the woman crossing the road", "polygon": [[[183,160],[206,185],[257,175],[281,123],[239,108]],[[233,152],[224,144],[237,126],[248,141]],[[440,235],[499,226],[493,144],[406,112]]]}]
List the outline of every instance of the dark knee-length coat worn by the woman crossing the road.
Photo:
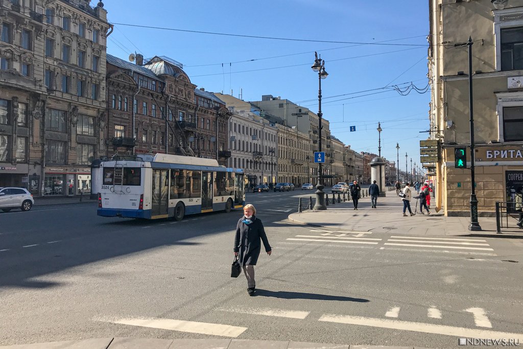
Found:
[{"label": "dark knee-length coat worn by the woman crossing the road", "polygon": [[245,216],[238,220],[236,226],[236,237],[234,238],[234,252],[240,252],[241,265],[256,265],[261,250],[261,241],[265,246],[265,252],[269,252],[272,248],[267,240],[267,234],[263,227],[263,223],[259,218],[253,216],[251,224],[242,222]]}]

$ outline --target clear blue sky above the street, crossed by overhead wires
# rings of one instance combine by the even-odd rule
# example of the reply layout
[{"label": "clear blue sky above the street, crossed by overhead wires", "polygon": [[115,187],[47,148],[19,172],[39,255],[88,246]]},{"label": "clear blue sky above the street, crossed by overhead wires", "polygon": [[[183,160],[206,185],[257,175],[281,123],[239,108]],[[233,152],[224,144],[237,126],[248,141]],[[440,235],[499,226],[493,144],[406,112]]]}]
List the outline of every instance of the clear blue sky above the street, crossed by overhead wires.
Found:
[{"label": "clear blue sky above the street, crossed by overhead wires", "polygon": [[[409,171],[411,157],[419,165],[419,140],[428,136],[419,131],[429,128],[430,91],[401,96],[390,86],[397,84],[402,90],[411,82],[420,89],[427,86],[426,1],[107,0],[104,4],[112,23],[374,43],[243,38],[115,25],[107,52],[123,59],[134,52],[145,58],[166,55],[183,63],[191,82],[206,91],[230,93],[232,88],[238,97],[243,89],[244,100],[271,94],[317,111],[318,79],[310,66],[318,51],[329,73],[322,81],[322,111],[332,134],[356,151],[378,153],[376,129],[381,121],[382,156],[395,161],[399,142],[400,168],[405,169],[405,152]],[[380,42],[394,45],[376,44]],[[247,60],[254,61],[242,62]],[[379,89],[385,86],[389,88]],[[373,91],[359,93],[366,90]],[[372,95],[362,96],[366,94]],[[356,126],[356,132],[349,126]]]}]

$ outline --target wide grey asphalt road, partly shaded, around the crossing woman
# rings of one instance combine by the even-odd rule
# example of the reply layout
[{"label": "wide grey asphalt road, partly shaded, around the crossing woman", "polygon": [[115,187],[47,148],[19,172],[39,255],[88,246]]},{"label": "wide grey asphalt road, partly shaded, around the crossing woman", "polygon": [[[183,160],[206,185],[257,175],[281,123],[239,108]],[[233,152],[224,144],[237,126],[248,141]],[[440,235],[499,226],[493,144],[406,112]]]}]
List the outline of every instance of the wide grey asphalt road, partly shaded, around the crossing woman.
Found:
[{"label": "wide grey asphalt road, partly shaded, around the crossing woman", "polygon": [[447,242],[480,244],[497,256],[383,249],[402,232],[290,224],[297,197],[312,193],[247,194],[273,247],[258,260],[256,297],[243,275],[229,276],[240,210],[180,222],[97,217],[93,203],[0,213],[0,345],[224,333],[433,348],[480,335],[523,343],[522,244]]}]

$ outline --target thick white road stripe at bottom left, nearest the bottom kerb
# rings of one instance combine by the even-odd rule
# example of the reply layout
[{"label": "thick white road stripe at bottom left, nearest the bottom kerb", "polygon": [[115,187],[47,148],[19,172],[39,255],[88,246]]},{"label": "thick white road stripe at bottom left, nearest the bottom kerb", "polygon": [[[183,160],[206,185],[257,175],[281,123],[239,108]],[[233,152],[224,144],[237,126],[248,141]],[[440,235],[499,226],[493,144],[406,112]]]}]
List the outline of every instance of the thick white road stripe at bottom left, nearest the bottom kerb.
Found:
[{"label": "thick white road stripe at bottom left, nearest the bottom kerb", "polygon": [[210,334],[224,337],[237,337],[247,330],[246,327],[174,319],[120,319],[110,322],[123,325],[141,326],[189,333]]}]

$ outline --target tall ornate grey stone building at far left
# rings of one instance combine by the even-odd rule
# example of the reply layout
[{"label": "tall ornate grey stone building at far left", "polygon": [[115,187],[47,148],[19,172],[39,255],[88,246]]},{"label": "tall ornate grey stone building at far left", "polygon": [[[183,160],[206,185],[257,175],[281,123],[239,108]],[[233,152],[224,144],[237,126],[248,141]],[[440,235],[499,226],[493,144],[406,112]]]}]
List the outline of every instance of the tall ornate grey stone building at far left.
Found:
[{"label": "tall ornate grey stone building at far left", "polygon": [[89,192],[89,165],[106,151],[104,4],[0,6],[0,186],[35,196]]}]

